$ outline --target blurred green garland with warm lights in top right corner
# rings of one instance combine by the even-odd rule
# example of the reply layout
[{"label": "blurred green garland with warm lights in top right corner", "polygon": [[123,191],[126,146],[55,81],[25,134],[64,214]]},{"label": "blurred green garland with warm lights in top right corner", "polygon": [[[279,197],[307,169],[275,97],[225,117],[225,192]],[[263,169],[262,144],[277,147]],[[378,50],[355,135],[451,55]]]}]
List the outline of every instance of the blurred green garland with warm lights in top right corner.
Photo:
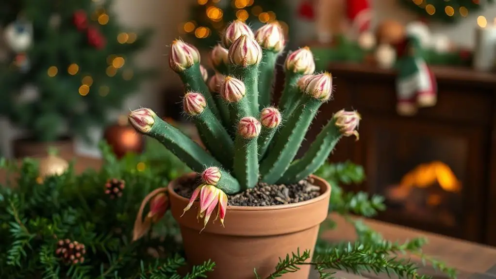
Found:
[{"label": "blurred green garland with warm lights in top right corner", "polygon": [[467,17],[470,12],[483,8],[484,4],[493,3],[494,0],[400,0],[400,2],[426,19],[455,22]]}]

